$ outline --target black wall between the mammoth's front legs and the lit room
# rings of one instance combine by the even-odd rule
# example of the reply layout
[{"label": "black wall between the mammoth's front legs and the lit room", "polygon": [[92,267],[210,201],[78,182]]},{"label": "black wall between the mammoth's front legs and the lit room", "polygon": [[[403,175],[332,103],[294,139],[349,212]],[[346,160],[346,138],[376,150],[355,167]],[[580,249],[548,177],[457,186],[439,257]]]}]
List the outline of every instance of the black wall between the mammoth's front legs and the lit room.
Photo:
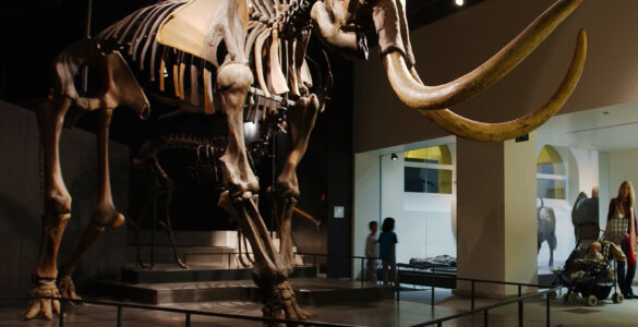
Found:
[{"label": "black wall between the mammoth's front legs and the lit room", "polygon": [[[308,53],[323,65],[322,49],[321,44],[313,39]],[[326,55],[334,86],[298,167],[301,191],[298,208],[311,214],[321,225],[317,227],[294,215],[292,237],[300,252],[329,255],[329,259],[317,257],[317,264],[328,277],[340,278],[350,277],[350,261],[337,256],[351,255],[352,62],[338,53],[326,51]],[[344,218],[334,217],[335,206],[345,207]],[[305,259],[306,263],[313,261]]]}]

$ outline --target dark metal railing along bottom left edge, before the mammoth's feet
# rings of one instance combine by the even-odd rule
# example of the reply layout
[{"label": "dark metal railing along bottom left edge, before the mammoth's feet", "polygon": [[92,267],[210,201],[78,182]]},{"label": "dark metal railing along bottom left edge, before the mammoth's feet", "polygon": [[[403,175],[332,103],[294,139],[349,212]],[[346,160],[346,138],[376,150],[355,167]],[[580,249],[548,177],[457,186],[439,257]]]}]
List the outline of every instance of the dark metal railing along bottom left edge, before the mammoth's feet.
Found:
[{"label": "dark metal railing along bottom left edge, before the mammoth's feet", "polygon": [[207,316],[207,317],[219,317],[219,318],[228,318],[228,319],[239,319],[239,320],[246,320],[246,322],[261,322],[263,324],[267,324],[268,326],[282,323],[282,324],[286,324],[287,326],[301,325],[301,326],[321,326],[321,327],[359,327],[358,325],[333,324],[333,323],[323,323],[323,322],[313,322],[313,320],[276,319],[276,318],[266,318],[266,317],[248,316],[248,315],[226,314],[226,313],[218,313],[218,312],[205,312],[205,311],[196,311],[196,310],[176,308],[176,307],[153,306],[153,305],[145,305],[145,304],[133,304],[133,303],[124,303],[124,302],[117,302],[117,301],[74,300],[74,299],[52,298],[52,296],[16,296],[16,298],[0,296],[0,302],[27,301],[27,300],[35,300],[35,299],[48,299],[48,300],[60,301],[60,314],[59,314],[59,318],[58,318],[58,326],[59,327],[64,326],[64,310],[65,310],[65,306],[68,305],[67,302],[86,303],[86,304],[104,305],[104,306],[115,306],[117,308],[117,315],[116,315],[116,322],[117,322],[116,326],[117,327],[123,326],[123,308],[137,308],[137,310],[145,310],[145,311],[156,311],[156,312],[168,312],[168,313],[182,314],[182,315],[184,315],[184,326],[185,327],[191,326],[191,318],[193,316]]}]

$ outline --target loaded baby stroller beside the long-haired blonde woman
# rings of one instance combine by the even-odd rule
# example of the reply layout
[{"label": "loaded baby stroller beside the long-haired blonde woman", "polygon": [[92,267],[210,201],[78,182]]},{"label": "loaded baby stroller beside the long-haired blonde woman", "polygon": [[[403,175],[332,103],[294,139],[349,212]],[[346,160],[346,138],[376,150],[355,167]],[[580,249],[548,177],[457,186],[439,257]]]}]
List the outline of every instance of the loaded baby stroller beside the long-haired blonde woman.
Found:
[{"label": "loaded baby stroller beside the long-haired blonde woman", "polygon": [[587,305],[593,306],[598,301],[607,299],[612,288],[612,301],[622,303],[623,294],[617,292],[615,263],[612,259],[622,259],[621,249],[599,239],[600,228],[597,222],[578,226],[578,242],[565,262],[563,269],[554,270],[554,284],[567,288],[563,295],[563,303],[575,303],[583,299]]}]

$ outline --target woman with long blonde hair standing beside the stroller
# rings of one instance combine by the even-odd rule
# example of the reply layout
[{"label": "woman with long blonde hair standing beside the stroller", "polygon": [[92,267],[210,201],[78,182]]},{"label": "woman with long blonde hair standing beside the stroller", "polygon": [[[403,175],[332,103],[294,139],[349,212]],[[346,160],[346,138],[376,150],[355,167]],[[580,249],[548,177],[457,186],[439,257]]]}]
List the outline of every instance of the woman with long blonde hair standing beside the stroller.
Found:
[{"label": "woman with long blonde hair standing beside the stroller", "polygon": [[621,292],[625,299],[633,299],[634,291],[631,282],[636,275],[636,208],[634,185],[630,181],[623,181],[618,187],[618,195],[611,199],[607,211],[607,226],[605,228],[605,240],[619,245],[625,256],[625,262],[616,261],[616,275]]}]

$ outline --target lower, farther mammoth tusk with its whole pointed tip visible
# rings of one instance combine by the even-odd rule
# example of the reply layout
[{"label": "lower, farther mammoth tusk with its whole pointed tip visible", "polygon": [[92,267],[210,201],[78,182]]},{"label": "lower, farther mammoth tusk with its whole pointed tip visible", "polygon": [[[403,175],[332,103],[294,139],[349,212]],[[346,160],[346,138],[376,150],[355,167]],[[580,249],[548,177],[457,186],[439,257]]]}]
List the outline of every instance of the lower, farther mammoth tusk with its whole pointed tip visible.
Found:
[{"label": "lower, farther mammoth tusk with its whole pointed tip visible", "polygon": [[580,29],[574,58],[558,89],[541,108],[516,120],[502,123],[484,123],[464,118],[448,109],[419,111],[443,130],[465,138],[487,142],[514,138],[535,130],[565,105],[580,78],[586,57],[587,34],[583,29]]}]

